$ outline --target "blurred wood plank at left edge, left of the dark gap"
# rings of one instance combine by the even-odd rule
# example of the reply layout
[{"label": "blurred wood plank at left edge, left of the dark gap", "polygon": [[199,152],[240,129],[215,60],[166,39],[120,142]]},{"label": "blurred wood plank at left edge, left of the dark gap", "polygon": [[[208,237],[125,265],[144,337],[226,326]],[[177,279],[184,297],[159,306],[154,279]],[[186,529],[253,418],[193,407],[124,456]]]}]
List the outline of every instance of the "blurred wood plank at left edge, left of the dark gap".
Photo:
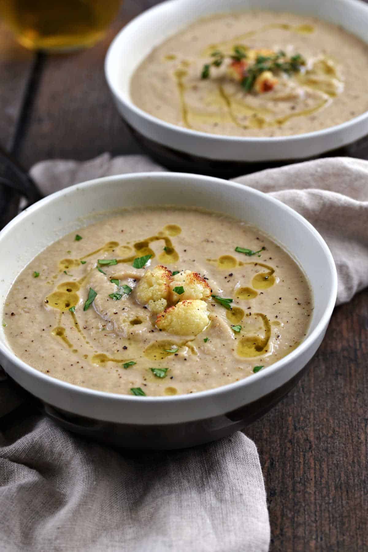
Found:
[{"label": "blurred wood plank at left edge, left of the dark gap", "polygon": [[0,21],[0,144],[8,150],[13,147],[34,59],[33,52],[19,46]]}]

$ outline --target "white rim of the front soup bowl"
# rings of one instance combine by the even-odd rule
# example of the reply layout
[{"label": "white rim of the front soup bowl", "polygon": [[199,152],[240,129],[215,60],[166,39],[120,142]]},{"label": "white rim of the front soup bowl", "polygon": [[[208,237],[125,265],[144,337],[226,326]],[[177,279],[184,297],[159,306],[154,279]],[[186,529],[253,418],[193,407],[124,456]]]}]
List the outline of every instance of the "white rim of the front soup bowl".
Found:
[{"label": "white rim of the front soup bowl", "polygon": [[[83,182],[81,184],[75,184],[69,188],[62,189],[59,192],[55,192],[54,194],[51,194],[47,196],[44,199],[41,199],[34,205],[31,205],[28,209],[24,210],[22,213],[20,213],[18,216],[16,216],[12,221],[9,222],[9,224],[4,227],[4,229],[0,232],[0,244],[1,240],[4,236],[7,235],[8,232],[12,231],[15,226],[18,226],[19,224],[22,224],[22,221],[26,219],[29,215],[34,213],[34,211],[37,211],[41,206],[47,205],[51,203],[52,201],[57,201],[58,198],[65,197],[65,195],[73,193],[74,190],[78,189],[86,189],[86,188],[92,188],[94,186],[104,185],[108,182],[113,182],[117,180],[124,180],[124,179],[131,179],[131,180],[141,180],[148,177],[152,177],[152,174],[150,172],[143,172],[143,173],[136,173],[136,174],[124,174],[124,175],[116,175],[116,176],[110,176],[110,177],[103,177],[103,178],[97,178],[88,182]],[[221,183],[223,186],[228,187],[236,187],[242,190],[248,190],[248,193],[252,193],[254,195],[258,195],[260,198],[263,198],[265,194],[263,192],[259,192],[258,190],[255,190],[253,188],[249,188],[247,186],[244,186],[243,184],[238,184],[235,182],[227,182],[220,178],[214,178],[214,177],[207,177],[207,176],[201,176],[197,174],[189,174],[189,173],[170,173],[170,172],[162,172],[159,173],[159,177],[161,178],[170,178],[172,180],[178,180],[180,181],[183,177],[190,177],[192,179],[196,179],[197,181],[211,181],[211,182],[217,182]],[[56,386],[61,386],[61,388],[65,390],[71,390],[73,392],[78,392],[81,395],[84,396],[90,396],[90,397],[104,397],[105,399],[111,400],[111,401],[119,401],[119,402],[126,402],[127,405],[132,404],[133,401],[136,404],[136,401],[145,401],[145,403],[151,403],[155,405],[162,404],[163,406],[168,403],[187,403],[190,404],[191,402],[198,401],[200,399],[206,399],[209,397],[216,397],[220,396],[222,394],[227,394],[232,389],[238,389],[238,388],[246,388],[248,385],[252,385],[252,382],[255,378],[259,379],[266,379],[271,377],[276,371],[282,370],[282,368],[285,367],[286,364],[291,362],[294,359],[297,359],[300,357],[313,343],[313,341],[318,337],[319,333],[323,331],[323,328],[327,326],[328,321],[330,319],[330,316],[332,314],[332,311],[334,309],[336,296],[337,296],[337,272],[335,263],[332,257],[332,254],[330,253],[330,250],[326,244],[326,242],[323,240],[322,236],[317,232],[316,229],[308,222],[304,217],[302,217],[300,214],[298,214],[294,209],[291,209],[289,206],[285,205],[278,199],[275,199],[270,196],[266,196],[268,200],[272,201],[274,204],[277,204],[281,209],[287,211],[289,215],[295,217],[298,221],[300,221],[303,225],[307,226],[308,230],[314,235],[314,238],[319,242],[319,245],[321,246],[324,254],[326,255],[326,259],[328,262],[328,266],[330,268],[330,272],[332,274],[332,282],[331,287],[329,290],[329,300],[327,304],[327,308],[324,311],[323,316],[318,321],[316,327],[311,332],[309,336],[306,337],[306,339],[298,346],[294,351],[289,353],[286,357],[278,360],[274,364],[271,364],[266,370],[260,370],[257,374],[253,374],[247,378],[244,378],[242,380],[239,380],[235,383],[223,385],[221,387],[210,389],[207,391],[199,391],[193,394],[188,395],[177,395],[177,396],[161,396],[161,397],[136,397],[136,396],[129,396],[129,395],[121,395],[116,393],[108,393],[105,391],[97,391],[93,389],[83,388],[81,386],[73,385],[71,383],[67,383],[66,381],[58,380],[56,378],[52,378],[51,376],[48,376],[39,370],[36,370],[35,368],[32,368],[29,364],[26,364],[23,360],[19,359],[9,348],[4,347],[3,343],[0,341],[0,351],[2,354],[7,357],[7,359],[12,362],[14,365],[16,365],[18,368],[24,370],[29,375],[36,378],[36,380],[39,381],[47,381],[47,383],[50,383],[50,380],[52,380],[52,383],[54,383]],[[3,308],[3,305],[0,307]],[[169,421],[168,421],[169,423]]]}]

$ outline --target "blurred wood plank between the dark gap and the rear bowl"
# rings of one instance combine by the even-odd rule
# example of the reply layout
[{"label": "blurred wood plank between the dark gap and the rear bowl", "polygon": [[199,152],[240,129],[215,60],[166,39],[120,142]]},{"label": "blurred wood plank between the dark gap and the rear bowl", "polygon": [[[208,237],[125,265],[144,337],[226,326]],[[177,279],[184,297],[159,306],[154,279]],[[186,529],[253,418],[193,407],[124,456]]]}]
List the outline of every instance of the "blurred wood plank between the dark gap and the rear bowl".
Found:
[{"label": "blurred wood plank between the dark gap and the rear bowl", "polygon": [[115,34],[157,0],[126,0],[105,39],[92,49],[47,56],[19,159],[89,159],[104,151],[139,152],[118,115],[104,77],[104,57]]}]

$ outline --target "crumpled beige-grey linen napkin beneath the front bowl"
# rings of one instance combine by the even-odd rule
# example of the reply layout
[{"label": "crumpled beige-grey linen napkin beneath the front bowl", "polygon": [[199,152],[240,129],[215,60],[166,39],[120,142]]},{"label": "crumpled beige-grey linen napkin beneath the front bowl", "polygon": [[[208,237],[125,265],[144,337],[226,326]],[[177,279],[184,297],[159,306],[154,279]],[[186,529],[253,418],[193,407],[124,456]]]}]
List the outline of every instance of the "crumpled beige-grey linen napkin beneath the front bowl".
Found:
[{"label": "crumpled beige-grey linen napkin beneath the front bowl", "polygon": [[[31,176],[47,194],[106,174],[163,170],[146,157],[104,154],[41,162]],[[271,193],[317,227],[337,263],[339,303],[368,285],[368,162],[324,159],[237,181]],[[0,416],[22,400],[17,389],[10,397],[5,378]],[[242,433],[190,450],[118,453],[24,412],[0,418],[2,550],[268,550],[262,471]]]}]

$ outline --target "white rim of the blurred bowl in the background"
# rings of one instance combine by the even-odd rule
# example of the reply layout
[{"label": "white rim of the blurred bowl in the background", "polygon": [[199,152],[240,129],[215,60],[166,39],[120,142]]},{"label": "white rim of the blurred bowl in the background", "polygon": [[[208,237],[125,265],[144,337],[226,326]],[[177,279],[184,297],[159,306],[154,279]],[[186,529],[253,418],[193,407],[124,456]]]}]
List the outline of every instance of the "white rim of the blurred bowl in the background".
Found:
[{"label": "white rim of the blurred bowl in the background", "polygon": [[[127,100],[125,95],[120,91],[120,89],[115,86],[113,77],[110,75],[109,72],[109,65],[110,65],[110,58],[113,57],[114,49],[116,45],[120,41],[120,36],[122,33],[124,33],[126,30],[130,29],[131,26],[135,26],[138,22],[141,20],[144,20],[146,18],[149,18],[150,15],[154,12],[160,12],[161,10],[164,12],[166,9],[166,6],[185,2],[185,0],[167,0],[166,2],[161,2],[157,4],[157,6],[153,6],[150,9],[145,10],[145,12],[138,15],[136,18],[132,19],[130,23],[124,26],[122,30],[115,36],[114,40],[111,42],[108,52],[106,54],[105,58],[105,78],[106,81],[109,84],[109,87],[111,88],[111,91],[116,95],[116,97],[119,98],[121,103],[123,103],[127,108],[129,108],[132,112],[136,113],[137,115],[141,116],[143,119],[146,119],[150,121],[151,123],[154,123],[158,126],[161,126],[162,129],[169,129],[169,130],[175,130],[180,131],[183,134],[186,134],[189,136],[198,136],[198,137],[204,137],[204,138],[211,138],[211,140],[228,140],[229,142],[243,142],[244,145],[248,144],[249,142],[258,142],[259,144],[267,144],[269,142],[299,142],[303,141],[306,138],[313,138],[313,137],[321,137],[321,136],[328,136],[329,134],[333,134],[337,130],[346,130],[349,129],[351,126],[355,125],[356,123],[360,123],[360,121],[363,121],[367,118],[368,112],[361,113],[360,115],[349,119],[348,121],[345,121],[345,123],[341,123],[339,125],[329,126],[326,129],[321,130],[315,130],[313,132],[305,132],[303,134],[295,134],[290,136],[270,136],[270,137],[252,137],[252,136],[228,136],[223,134],[211,134],[211,132],[200,132],[198,130],[192,130],[187,129],[179,125],[173,125],[172,123],[167,123],[166,121],[162,119],[158,119],[157,117],[154,117],[150,113],[147,113],[143,111],[141,108],[137,107],[131,100]],[[359,6],[362,9],[366,8],[368,10],[368,4],[365,4],[364,2],[361,2],[360,0],[333,0],[335,4],[353,4],[355,6]],[[211,15],[209,13],[209,15]]]}]

